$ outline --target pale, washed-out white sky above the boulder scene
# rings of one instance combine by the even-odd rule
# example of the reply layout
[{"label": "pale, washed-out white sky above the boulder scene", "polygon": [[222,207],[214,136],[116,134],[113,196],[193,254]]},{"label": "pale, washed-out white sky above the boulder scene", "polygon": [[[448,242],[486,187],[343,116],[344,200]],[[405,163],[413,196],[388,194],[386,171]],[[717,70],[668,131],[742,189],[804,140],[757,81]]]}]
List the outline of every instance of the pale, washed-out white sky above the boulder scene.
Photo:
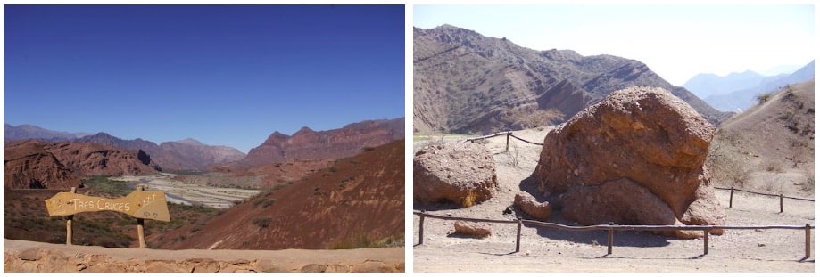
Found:
[{"label": "pale, washed-out white sky above the boulder scene", "polygon": [[803,66],[816,56],[808,4],[416,5],[413,25],[472,29],[535,49],[611,54],[681,86],[698,73]]}]

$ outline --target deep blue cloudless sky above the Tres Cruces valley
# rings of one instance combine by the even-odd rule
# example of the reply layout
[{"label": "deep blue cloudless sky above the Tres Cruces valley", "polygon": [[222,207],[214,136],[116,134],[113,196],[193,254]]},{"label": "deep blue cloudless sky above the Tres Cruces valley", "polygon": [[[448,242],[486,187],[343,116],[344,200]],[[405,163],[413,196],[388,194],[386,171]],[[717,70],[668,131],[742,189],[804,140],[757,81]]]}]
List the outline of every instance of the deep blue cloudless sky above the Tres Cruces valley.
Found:
[{"label": "deep blue cloudless sky above the Tres Cruces valley", "polygon": [[5,5],[4,122],[240,151],[404,116],[403,5]]}]

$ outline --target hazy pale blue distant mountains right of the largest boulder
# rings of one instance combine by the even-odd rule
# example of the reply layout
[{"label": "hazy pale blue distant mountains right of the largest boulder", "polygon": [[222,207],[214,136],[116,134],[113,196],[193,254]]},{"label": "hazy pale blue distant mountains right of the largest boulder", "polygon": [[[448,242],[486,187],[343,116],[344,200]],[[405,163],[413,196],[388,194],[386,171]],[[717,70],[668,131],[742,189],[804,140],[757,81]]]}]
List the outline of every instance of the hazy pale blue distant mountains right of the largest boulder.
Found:
[{"label": "hazy pale blue distant mountains right of the largest boulder", "polygon": [[747,110],[758,103],[757,96],[769,94],[781,87],[805,82],[815,77],[815,61],[791,74],[763,76],[753,71],[731,73],[725,77],[699,74],[683,84],[692,93],[717,110]]}]

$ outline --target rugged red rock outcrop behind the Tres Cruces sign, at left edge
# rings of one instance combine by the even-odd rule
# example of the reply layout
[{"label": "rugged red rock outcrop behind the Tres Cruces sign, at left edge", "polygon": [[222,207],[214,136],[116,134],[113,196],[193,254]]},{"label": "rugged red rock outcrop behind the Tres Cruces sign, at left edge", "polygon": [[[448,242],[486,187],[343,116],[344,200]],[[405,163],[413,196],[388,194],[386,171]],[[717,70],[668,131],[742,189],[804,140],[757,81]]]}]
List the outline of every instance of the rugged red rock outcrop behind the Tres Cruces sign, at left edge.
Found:
[{"label": "rugged red rock outcrop behind the Tres Cruces sign, at left edge", "polygon": [[4,187],[59,189],[79,186],[88,175],[156,174],[145,151],[127,151],[99,143],[4,143]]}]

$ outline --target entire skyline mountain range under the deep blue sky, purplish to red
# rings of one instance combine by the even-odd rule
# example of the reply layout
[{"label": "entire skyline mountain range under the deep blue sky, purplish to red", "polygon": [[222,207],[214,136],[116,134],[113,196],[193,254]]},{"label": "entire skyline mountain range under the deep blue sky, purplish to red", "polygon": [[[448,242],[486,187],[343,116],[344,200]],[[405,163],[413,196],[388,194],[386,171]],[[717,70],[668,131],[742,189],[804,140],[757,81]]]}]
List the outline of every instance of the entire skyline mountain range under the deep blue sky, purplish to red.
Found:
[{"label": "entire skyline mountain range under the deep blue sky, purplish to red", "polygon": [[4,125],[4,141],[39,139],[46,142],[100,143],[123,150],[145,151],[162,170],[210,171],[214,167],[256,167],[294,160],[334,160],[365,148],[404,138],[404,118],[365,120],[338,129],[313,131],[304,126],[293,135],[274,132],[247,155],[228,146],[206,145],[195,139],[153,143],[125,140],[106,133],[58,132],[31,125]]}]

